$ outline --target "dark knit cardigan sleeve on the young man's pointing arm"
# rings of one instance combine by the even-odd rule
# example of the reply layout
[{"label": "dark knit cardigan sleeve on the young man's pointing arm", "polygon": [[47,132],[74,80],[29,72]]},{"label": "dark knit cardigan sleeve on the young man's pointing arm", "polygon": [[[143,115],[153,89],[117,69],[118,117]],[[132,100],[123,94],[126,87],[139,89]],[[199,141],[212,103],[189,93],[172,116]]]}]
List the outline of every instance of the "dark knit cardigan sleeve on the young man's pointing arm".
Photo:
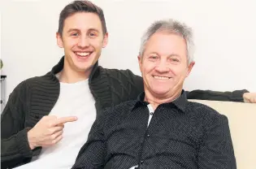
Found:
[{"label": "dark knit cardigan sleeve on the young man's pointing arm", "polygon": [[14,167],[23,163],[24,158],[32,157],[28,145],[28,130],[24,128],[27,111],[26,86],[21,83],[11,93],[1,115],[1,166]]}]

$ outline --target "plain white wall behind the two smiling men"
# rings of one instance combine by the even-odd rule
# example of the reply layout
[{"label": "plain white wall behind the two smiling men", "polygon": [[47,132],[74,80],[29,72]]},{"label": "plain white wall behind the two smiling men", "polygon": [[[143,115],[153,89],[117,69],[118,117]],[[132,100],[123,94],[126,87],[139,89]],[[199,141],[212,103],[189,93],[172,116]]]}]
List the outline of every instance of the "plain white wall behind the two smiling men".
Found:
[{"label": "plain white wall behind the two smiling men", "polygon": [[[59,12],[68,0],[2,2],[3,74],[7,97],[22,80],[50,71],[63,50],[56,45]],[[140,75],[137,53],[142,32],[154,20],[174,18],[195,33],[196,65],[185,89],[256,92],[256,1],[98,0],[105,12],[110,41],[104,67],[131,69]]]}]

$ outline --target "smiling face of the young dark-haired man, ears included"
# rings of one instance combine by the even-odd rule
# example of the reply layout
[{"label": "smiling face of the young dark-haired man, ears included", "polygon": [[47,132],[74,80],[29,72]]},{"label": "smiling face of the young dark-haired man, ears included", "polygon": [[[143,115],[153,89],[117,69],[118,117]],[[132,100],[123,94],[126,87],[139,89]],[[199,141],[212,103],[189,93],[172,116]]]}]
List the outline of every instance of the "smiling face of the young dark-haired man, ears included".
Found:
[{"label": "smiling face of the young dark-haired man, ears included", "polygon": [[75,72],[90,73],[107,44],[98,15],[76,12],[64,20],[63,32],[57,33],[59,47],[64,48],[65,67]]}]

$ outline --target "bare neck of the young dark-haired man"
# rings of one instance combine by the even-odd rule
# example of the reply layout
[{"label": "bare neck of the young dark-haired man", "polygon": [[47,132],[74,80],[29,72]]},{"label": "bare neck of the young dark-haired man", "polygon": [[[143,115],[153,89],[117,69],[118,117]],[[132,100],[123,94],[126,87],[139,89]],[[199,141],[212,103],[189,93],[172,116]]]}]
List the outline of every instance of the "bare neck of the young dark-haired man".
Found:
[{"label": "bare neck of the young dark-haired man", "polygon": [[81,80],[86,80],[89,78],[89,74],[92,69],[85,72],[78,72],[71,67],[67,67],[64,63],[63,71],[59,74],[59,81],[63,83],[76,83]]}]

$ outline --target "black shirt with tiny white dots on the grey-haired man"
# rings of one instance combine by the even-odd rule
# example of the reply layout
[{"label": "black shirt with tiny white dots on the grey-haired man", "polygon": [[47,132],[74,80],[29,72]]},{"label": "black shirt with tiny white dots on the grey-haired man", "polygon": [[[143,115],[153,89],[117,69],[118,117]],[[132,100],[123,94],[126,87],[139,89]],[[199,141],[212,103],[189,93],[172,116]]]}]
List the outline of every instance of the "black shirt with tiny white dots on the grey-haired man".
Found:
[{"label": "black shirt with tiny white dots on the grey-haired man", "polygon": [[98,116],[73,169],[236,168],[226,116],[189,102],[183,91],[150,119],[144,94]]}]

